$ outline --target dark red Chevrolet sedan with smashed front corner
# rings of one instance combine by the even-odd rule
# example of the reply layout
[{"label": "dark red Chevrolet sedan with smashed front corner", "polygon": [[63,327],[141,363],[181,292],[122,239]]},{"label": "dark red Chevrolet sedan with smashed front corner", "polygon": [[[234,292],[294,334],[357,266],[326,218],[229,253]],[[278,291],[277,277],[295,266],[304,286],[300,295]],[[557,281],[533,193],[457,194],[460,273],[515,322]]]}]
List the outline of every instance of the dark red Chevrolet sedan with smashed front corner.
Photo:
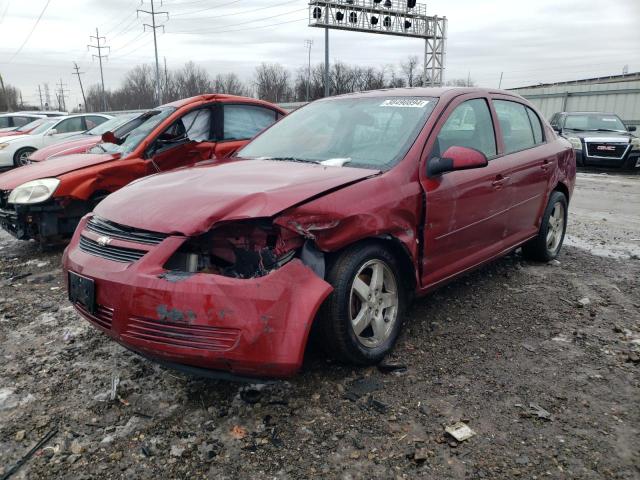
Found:
[{"label": "dark red Chevrolet sedan with smashed front corner", "polygon": [[575,181],[571,145],[497,90],[320,100],[237,156],[140,180],[84,217],[63,259],[82,316],[208,374],[291,375],[314,322],[330,355],[373,364],[412,294],[518,247],[555,258]]}]

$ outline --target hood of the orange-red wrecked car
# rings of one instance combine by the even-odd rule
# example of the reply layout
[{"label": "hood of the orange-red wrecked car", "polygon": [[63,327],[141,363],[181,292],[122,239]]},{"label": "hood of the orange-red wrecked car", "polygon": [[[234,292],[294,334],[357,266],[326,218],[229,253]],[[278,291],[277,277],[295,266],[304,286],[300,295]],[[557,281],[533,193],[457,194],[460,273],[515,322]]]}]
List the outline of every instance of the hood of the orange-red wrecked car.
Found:
[{"label": "hood of the orange-red wrecked car", "polygon": [[0,175],[0,190],[13,190],[19,185],[40,178],[59,177],[85,167],[110,162],[119,158],[118,155],[108,153],[69,155],[52,158],[46,162],[33,163],[24,167],[14,168]]}]

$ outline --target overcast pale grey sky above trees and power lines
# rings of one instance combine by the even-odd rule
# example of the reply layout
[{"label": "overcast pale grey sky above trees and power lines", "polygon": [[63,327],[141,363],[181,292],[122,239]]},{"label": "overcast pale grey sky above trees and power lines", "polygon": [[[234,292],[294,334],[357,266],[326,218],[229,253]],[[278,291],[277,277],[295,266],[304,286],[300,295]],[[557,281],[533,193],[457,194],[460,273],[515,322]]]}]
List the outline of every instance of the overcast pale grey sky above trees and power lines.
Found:
[{"label": "overcast pale grey sky above trees and power lines", "polygon": [[[36,103],[38,84],[50,89],[62,79],[72,103],[81,101],[77,61],[85,85],[99,81],[89,36],[106,36],[107,88],[125,72],[153,61],[153,38],[136,18],[139,0],[48,0],[32,36],[19,51],[47,0],[0,0],[0,73],[6,83]],[[160,1],[156,0],[156,4]],[[324,59],[323,30],[307,26],[307,0],[165,0],[168,11],[158,48],[169,68],[188,60],[212,75],[236,72],[251,79],[257,64],[305,65],[305,39],[312,61]],[[150,0],[140,8],[149,9]],[[503,87],[640,71],[640,0],[431,0],[428,13],[449,19],[446,78],[471,78]],[[275,25],[278,24],[278,25]],[[95,43],[95,40],[94,40]],[[331,32],[331,61],[384,66],[422,56],[424,43],[352,32]],[[69,105],[68,101],[68,105]]]}]

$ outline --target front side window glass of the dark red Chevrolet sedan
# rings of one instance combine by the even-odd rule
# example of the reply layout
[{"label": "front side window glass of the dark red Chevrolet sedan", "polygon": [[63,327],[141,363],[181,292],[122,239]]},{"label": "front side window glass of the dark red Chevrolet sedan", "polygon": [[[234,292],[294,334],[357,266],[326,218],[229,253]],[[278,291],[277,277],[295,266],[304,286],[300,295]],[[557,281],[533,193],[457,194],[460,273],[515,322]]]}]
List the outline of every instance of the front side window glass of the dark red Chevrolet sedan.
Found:
[{"label": "front side window glass of the dark red Chevrolet sedan", "polygon": [[439,157],[454,146],[473,148],[487,158],[496,155],[496,136],[486,100],[467,100],[451,112],[436,137],[431,156]]}]

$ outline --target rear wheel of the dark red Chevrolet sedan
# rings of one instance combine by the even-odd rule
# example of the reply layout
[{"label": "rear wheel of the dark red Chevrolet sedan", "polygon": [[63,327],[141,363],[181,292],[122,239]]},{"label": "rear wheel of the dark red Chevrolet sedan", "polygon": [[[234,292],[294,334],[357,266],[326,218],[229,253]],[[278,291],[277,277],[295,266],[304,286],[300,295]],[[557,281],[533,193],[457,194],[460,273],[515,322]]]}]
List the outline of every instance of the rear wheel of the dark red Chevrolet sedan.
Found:
[{"label": "rear wheel of the dark red Chevrolet sedan", "polygon": [[551,192],[538,235],[522,246],[527,260],[549,262],[558,256],[567,230],[567,206],[567,197],[562,192]]}]

